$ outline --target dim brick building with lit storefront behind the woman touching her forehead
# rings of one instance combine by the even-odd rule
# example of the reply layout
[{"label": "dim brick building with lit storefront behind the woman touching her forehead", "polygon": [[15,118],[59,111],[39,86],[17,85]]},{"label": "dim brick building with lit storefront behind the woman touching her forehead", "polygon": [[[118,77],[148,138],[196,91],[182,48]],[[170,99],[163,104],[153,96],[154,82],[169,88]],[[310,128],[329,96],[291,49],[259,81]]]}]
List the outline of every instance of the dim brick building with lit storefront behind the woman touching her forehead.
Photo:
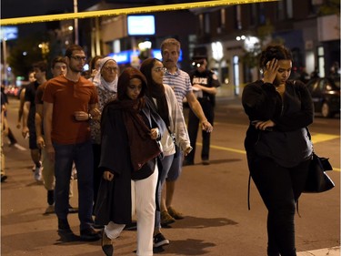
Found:
[{"label": "dim brick building with lit storefront behind the woman touching her forehead", "polygon": [[[271,42],[292,50],[293,77],[304,68],[308,74],[317,70],[320,77],[328,76],[330,67],[340,61],[340,20],[339,8],[334,15],[321,15],[325,2],[282,0],[196,10],[197,46],[206,48],[211,67],[232,84],[235,95],[259,77],[249,58]],[[217,49],[222,51],[218,55]]]}]

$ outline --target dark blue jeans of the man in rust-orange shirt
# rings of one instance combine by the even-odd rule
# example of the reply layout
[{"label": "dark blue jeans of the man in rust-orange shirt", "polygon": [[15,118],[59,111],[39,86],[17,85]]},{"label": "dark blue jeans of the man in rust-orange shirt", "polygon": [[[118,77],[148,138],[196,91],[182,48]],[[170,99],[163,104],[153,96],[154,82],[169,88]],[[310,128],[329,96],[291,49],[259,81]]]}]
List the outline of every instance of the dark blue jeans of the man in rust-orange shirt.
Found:
[{"label": "dark blue jeans of the man in rust-orange shirt", "polygon": [[78,179],[78,218],[80,230],[90,227],[94,201],[94,157],[90,141],[84,143],[61,145],[54,143],[55,148],[55,214],[58,219],[67,219],[69,204],[69,187],[73,162],[77,169]]}]

